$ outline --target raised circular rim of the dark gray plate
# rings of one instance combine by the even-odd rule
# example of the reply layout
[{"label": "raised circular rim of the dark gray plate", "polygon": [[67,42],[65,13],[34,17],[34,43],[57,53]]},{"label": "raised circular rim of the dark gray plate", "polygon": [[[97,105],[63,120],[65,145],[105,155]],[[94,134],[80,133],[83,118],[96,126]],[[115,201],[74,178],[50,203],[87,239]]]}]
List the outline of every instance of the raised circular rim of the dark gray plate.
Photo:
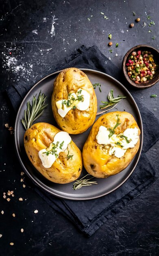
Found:
[{"label": "raised circular rim of the dark gray plate", "polygon": [[56,71],[56,72],[53,72],[47,76],[45,76],[44,78],[42,78],[41,80],[39,80],[37,83],[35,83],[35,85],[33,85],[32,88],[30,88],[30,90],[27,92],[27,94],[25,95],[24,99],[22,100],[22,103],[20,104],[20,107],[17,111],[17,115],[16,115],[16,118],[15,118],[15,125],[14,125],[14,146],[15,146],[15,151],[16,151],[16,155],[17,155],[17,158],[24,170],[24,172],[26,173],[26,175],[30,178],[30,180],[33,182],[33,184],[35,184],[38,188],[48,192],[49,194],[51,195],[54,195],[56,196],[57,198],[61,198],[61,199],[68,199],[68,200],[91,200],[91,199],[96,199],[96,198],[100,198],[102,196],[105,196],[105,195],[108,195],[110,193],[112,193],[113,191],[115,191],[116,189],[118,189],[120,186],[122,186],[126,180],[129,179],[129,177],[131,176],[131,174],[133,173],[133,171],[135,170],[136,166],[137,166],[137,163],[139,162],[139,158],[140,158],[140,155],[142,153],[142,146],[143,146],[143,124],[142,124],[142,117],[141,117],[141,114],[140,114],[140,111],[139,111],[139,108],[137,106],[137,103],[135,102],[133,96],[131,95],[131,93],[125,88],[125,86],[120,83],[117,79],[115,79],[114,77],[104,73],[104,72],[101,72],[101,71],[98,71],[98,70],[92,70],[92,69],[87,69],[87,68],[79,68],[79,70],[82,70],[82,71],[86,71],[86,72],[92,72],[92,73],[98,73],[98,74],[101,74],[101,75],[104,75],[104,76],[107,76],[109,77],[109,79],[112,79],[113,81],[115,81],[115,83],[118,83],[120,84],[120,86],[127,92],[127,94],[129,94],[129,97],[131,97],[135,107],[136,107],[136,110],[137,110],[137,114],[138,114],[138,117],[139,117],[139,121],[140,121],[140,130],[141,130],[141,134],[140,134],[140,146],[139,146],[139,150],[138,150],[138,157],[137,157],[137,160],[136,160],[136,163],[134,165],[134,167],[132,168],[131,172],[129,173],[129,175],[127,175],[124,180],[118,185],[118,186],[115,186],[115,188],[111,189],[111,191],[109,192],[106,192],[106,193],[103,193],[102,195],[96,195],[96,196],[91,196],[89,198],[83,198],[83,197],[79,197],[79,198],[76,198],[76,197],[69,197],[69,196],[65,196],[65,195],[59,195],[58,193],[54,193],[54,192],[51,192],[49,191],[49,189],[47,189],[47,185],[44,184],[43,182],[39,181],[39,180],[36,180],[30,173],[29,171],[27,170],[27,168],[24,166],[23,162],[22,162],[22,159],[20,157],[20,150],[19,150],[19,146],[18,146],[18,139],[17,139],[17,126],[18,126],[18,122],[19,122],[19,114],[21,112],[21,108],[23,106],[23,103],[24,101],[26,100],[26,98],[28,97],[28,94],[30,94],[30,92],[39,84],[41,83],[42,81],[44,81],[45,79],[47,79],[49,76],[53,76],[53,75],[56,75],[58,73],[60,73],[62,70],[59,70],[59,71]]}]

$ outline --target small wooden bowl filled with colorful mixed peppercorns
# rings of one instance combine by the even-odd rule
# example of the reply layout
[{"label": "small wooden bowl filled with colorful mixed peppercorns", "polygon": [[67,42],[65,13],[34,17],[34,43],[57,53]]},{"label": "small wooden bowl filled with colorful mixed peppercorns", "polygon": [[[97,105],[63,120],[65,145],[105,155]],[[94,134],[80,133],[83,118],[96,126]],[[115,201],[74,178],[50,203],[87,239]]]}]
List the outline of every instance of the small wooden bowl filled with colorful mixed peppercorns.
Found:
[{"label": "small wooden bowl filled with colorful mixed peppercorns", "polygon": [[148,45],[131,48],[122,61],[126,80],[134,87],[146,89],[159,81],[159,51]]}]

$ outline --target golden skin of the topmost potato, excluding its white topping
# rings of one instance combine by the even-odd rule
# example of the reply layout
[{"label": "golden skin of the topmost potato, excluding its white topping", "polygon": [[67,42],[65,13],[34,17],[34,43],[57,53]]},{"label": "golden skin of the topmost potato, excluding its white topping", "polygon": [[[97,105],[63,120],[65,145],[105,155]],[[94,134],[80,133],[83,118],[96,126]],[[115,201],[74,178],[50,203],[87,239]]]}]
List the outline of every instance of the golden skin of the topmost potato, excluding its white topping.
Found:
[{"label": "golden skin of the topmost potato, excluding its white topping", "polygon": [[[68,99],[68,94],[77,92],[79,88],[90,94],[90,104],[87,110],[70,110],[65,117],[57,112],[56,102]],[[67,68],[60,72],[54,81],[52,94],[52,112],[58,126],[70,134],[85,132],[95,121],[97,113],[97,98],[94,88],[87,75],[76,67]]]}]

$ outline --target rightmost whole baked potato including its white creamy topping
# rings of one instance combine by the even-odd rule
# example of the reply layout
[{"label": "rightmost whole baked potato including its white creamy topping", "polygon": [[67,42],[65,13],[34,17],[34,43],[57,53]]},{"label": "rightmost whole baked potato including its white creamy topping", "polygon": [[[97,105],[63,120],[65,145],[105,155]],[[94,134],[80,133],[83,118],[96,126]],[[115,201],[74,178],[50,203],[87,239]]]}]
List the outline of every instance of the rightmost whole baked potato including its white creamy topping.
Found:
[{"label": "rightmost whole baked potato including its white creamy topping", "polygon": [[83,146],[83,165],[88,173],[106,178],[124,170],[139,149],[140,129],[128,112],[110,112],[93,125]]}]

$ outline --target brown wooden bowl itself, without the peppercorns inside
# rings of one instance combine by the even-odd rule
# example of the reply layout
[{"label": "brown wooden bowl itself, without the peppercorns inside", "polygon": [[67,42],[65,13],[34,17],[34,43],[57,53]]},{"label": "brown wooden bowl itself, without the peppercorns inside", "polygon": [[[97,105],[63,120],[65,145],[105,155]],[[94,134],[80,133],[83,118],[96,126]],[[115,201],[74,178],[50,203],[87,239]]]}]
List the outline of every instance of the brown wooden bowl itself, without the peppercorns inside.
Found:
[{"label": "brown wooden bowl itself, without the peppercorns inside", "polygon": [[147,89],[152,85],[155,85],[159,81],[159,68],[157,69],[156,74],[154,75],[152,80],[146,81],[144,83],[135,83],[134,81],[132,81],[127,74],[126,63],[128,62],[130,53],[138,50],[151,52],[151,54],[153,54],[154,56],[155,61],[157,62],[157,64],[159,64],[159,51],[157,49],[149,45],[137,45],[131,48],[128,52],[126,52],[122,61],[122,71],[128,83],[131,84],[133,87],[136,87],[138,89]]}]

